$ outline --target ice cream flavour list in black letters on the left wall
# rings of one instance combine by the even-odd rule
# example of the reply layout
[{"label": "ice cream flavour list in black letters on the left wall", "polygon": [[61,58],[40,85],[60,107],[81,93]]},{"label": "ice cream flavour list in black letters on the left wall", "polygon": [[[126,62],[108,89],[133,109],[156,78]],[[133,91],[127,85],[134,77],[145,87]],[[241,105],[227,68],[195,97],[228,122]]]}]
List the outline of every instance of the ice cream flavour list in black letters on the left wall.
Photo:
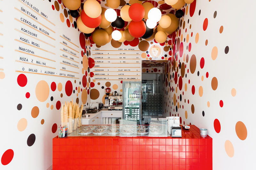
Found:
[{"label": "ice cream flavour list in black letters on the left wall", "polygon": [[33,3],[18,0],[14,6],[16,72],[79,79],[77,37],[57,30],[56,17]]}]

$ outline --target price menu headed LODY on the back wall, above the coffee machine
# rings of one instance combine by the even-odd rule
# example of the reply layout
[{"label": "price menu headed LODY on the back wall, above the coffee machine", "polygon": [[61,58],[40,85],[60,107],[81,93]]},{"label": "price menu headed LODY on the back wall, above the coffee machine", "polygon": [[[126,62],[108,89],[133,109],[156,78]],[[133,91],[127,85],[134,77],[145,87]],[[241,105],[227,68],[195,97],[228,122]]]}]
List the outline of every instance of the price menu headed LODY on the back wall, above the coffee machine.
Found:
[{"label": "price menu headed LODY on the back wall, above the coffee machine", "polygon": [[94,48],[94,80],[141,81],[140,50],[118,48],[117,50]]}]

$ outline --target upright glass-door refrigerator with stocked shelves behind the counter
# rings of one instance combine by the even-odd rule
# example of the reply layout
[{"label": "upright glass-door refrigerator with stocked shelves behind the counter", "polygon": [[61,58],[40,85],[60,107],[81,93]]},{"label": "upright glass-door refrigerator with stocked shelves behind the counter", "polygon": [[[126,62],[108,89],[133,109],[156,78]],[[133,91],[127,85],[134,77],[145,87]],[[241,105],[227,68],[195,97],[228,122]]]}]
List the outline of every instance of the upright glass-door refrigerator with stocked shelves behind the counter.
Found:
[{"label": "upright glass-door refrigerator with stocked shelves behind the counter", "polygon": [[125,120],[141,118],[140,81],[123,81],[123,118]]}]

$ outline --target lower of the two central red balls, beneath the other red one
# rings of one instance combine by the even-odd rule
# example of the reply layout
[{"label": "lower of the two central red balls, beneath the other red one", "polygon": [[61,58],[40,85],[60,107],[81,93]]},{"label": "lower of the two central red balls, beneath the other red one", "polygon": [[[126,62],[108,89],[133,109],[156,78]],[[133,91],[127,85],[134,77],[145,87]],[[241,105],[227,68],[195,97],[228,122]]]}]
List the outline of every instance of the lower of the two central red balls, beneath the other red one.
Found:
[{"label": "lower of the two central red balls, beneath the other red one", "polygon": [[146,25],[142,20],[140,20],[139,22],[131,21],[128,30],[133,37],[140,38],[146,32]]}]

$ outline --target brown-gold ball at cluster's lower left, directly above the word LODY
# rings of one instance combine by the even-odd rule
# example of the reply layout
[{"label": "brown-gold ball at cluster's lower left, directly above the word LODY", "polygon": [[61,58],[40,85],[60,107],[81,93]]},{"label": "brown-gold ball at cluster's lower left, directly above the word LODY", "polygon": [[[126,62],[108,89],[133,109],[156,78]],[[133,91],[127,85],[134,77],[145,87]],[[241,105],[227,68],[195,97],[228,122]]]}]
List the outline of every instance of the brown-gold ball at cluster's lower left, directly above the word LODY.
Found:
[{"label": "brown-gold ball at cluster's lower left, directly above the word LODY", "polygon": [[108,43],[108,33],[103,29],[98,29],[93,32],[92,40],[98,46],[104,46]]}]

